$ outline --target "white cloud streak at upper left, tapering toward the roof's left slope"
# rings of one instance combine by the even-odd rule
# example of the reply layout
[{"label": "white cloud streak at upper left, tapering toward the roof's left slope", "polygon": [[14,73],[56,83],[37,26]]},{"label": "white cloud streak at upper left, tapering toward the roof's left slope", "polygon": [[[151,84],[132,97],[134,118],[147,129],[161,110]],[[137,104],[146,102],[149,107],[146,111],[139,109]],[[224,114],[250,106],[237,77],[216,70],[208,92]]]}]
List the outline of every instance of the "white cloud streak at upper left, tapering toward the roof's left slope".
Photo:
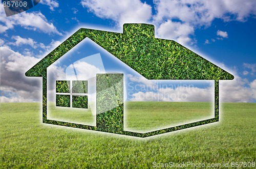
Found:
[{"label": "white cloud streak at upper left, tapering toward the roof's left slope", "polygon": [[50,23],[45,15],[43,15],[41,12],[22,12],[16,15],[6,17],[4,8],[0,8],[0,23],[0,33],[4,33],[9,29],[13,29],[16,25],[20,25],[28,30],[39,30],[48,34],[55,33],[58,35],[62,35],[57,31],[53,23]]}]

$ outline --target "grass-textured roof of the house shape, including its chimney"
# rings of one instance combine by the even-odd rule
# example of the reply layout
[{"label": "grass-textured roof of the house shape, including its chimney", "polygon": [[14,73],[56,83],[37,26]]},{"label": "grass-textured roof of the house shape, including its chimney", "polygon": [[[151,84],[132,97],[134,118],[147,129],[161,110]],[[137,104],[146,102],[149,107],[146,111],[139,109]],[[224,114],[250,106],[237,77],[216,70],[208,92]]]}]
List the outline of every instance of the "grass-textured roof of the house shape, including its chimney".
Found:
[{"label": "grass-textured roof of the house shape, including its chimney", "polygon": [[233,75],[173,40],[155,38],[151,24],[124,24],[123,33],[79,29],[40,60],[26,76],[46,77],[47,67],[85,38],[147,79],[231,80]]}]

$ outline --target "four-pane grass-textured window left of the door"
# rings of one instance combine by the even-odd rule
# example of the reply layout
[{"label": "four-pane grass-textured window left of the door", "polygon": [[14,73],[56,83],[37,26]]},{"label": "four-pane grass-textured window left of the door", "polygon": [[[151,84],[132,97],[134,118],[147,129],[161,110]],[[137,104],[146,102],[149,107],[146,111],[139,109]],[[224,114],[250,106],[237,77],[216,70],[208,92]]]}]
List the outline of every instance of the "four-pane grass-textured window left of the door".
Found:
[{"label": "four-pane grass-textured window left of the door", "polygon": [[87,94],[87,80],[56,80],[56,106],[88,108]]}]

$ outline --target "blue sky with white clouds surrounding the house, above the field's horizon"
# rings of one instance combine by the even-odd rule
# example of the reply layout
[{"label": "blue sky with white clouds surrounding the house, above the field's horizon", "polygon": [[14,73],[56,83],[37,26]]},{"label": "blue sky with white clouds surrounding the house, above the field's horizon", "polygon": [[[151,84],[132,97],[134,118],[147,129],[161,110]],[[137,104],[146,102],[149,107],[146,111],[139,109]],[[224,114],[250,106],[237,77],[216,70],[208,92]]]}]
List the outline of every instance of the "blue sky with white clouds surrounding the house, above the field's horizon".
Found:
[{"label": "blue sky with white clouds surrounding the house, above the field's horizon", "polygon": [[[1,4],[1,102],[40,101],[40,79],[26,77],[25,72],[79,27],[122,32],[123,23],[154,24],[156,37],[175,40],[231,72],[236,78],[221,81],[221,101],[255,102],[253,0],[42,0],[9,17]],[[140,77],[130,77],[143,84]]]}]

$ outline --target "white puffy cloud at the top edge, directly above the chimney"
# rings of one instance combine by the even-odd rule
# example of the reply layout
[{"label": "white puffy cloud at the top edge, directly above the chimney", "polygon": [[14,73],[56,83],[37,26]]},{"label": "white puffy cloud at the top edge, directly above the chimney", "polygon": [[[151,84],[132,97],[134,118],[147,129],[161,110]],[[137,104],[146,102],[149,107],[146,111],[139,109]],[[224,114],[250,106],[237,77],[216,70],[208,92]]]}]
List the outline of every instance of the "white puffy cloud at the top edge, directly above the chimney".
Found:
[{"label": "white puffy cloud at the top edge, directly above the chimney", "polygon": [[100,18],[123,23],[144,23],[152,17],[152,7],[139,0],[81,0],[81,5]]}]

